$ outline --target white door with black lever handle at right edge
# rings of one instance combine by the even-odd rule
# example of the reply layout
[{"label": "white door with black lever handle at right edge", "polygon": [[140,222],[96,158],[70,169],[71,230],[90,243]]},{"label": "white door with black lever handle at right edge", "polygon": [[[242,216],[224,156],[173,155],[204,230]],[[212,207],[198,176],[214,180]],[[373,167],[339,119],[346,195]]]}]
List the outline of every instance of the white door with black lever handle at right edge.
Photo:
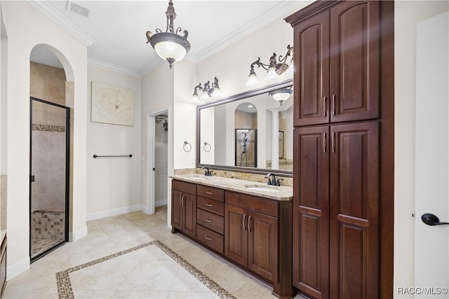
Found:
[{"label": "white door with black lever handle at right edge", "polygon": [[415,298],[449,298],[449,225],[421,219],[449,222],[448,45],[449,13],[417,24],[415,288],[408,290]]}]

